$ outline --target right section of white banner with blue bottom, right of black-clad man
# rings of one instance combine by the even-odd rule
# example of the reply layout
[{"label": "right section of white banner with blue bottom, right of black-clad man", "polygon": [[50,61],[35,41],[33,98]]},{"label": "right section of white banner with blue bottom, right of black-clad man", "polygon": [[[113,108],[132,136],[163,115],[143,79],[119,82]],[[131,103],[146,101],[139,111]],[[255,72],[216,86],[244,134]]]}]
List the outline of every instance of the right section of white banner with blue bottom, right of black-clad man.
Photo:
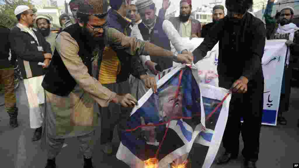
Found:
[{"label": "right section of white banner with blue bottom, right of black-clad man", "polygon": [[286,40],[266,40],[262,58],[265,79],[262,123],[266,125],[277,125],[283,70],[288,51],[285,43]]}]

